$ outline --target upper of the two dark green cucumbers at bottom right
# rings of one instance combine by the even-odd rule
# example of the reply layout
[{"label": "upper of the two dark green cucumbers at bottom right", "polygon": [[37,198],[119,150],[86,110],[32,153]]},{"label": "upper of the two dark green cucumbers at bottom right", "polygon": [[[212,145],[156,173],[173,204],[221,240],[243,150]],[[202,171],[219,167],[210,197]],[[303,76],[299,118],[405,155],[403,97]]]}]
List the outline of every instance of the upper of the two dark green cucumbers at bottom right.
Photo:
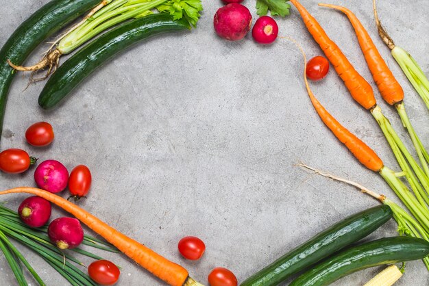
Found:
[{"label": "upper of the two dark green cucumbers at bottom right", "polygon": [[366,237],[392,216],[389,206],[379,205],[345,218],[247,278],[241,286],[278,285],[289,276]]}]

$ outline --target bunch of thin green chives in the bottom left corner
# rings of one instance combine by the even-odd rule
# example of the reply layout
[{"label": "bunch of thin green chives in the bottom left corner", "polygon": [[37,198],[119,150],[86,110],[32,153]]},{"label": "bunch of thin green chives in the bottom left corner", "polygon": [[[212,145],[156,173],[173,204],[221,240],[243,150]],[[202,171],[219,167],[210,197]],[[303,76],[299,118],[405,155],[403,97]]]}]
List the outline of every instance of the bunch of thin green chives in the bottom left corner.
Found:
[{"label": "bunch of thin green chives in the bottom left corner", "polygon": [[[79,268],[73,265],[73,263],[75,263],[84,266],[82,261],[70,255],[69,252],[61,251],[49,241],[46,226],[37,229],[31,228],[21,221],[18,213],[0,204],[0,249],[20,286],[29,284],[24,275],[23,265],[28,272],[32,274],[38,285],[45,285],[45,283],[34,268],[32,268],[32,265],[30,265],[27,259],[25,259],[21,252],[12,244],[11,239],[13,239],[14,242],[26,246],[36,253],[36,255],[44,259],[54,270],[66,278],[71,285],[97,285],[91,280],[88,274],[82,272],[82,270],[79,270]],[[107,242],[103,242],[100,239],[88,235],[85,235],[82,244],[110,252],[119,252],[119,250]],[[93,259],[103,259],[82,248],[74,248],[71,251]]]}]

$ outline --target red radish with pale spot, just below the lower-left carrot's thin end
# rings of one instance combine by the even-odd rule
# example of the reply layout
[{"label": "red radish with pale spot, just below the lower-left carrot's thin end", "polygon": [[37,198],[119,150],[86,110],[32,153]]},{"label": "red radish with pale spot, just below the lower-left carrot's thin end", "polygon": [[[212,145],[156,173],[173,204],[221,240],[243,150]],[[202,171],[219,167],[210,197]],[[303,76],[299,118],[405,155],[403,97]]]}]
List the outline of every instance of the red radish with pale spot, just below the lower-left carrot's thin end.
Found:
[{"label": "red radish with pale spot, just below the lower-left carrot's thin end", "polygon": [[28,226],[44,226],[51,217],[51,203],[40,196],[30,196],[19,205],[18,213]]}]

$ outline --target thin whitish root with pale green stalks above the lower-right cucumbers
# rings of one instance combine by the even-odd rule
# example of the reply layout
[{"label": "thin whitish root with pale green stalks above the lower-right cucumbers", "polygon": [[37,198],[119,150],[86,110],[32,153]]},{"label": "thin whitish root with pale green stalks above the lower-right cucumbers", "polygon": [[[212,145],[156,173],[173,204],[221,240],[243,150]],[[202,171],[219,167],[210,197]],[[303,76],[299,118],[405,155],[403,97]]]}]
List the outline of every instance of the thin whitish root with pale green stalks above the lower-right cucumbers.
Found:
[{"label": "thin whitish root with pale green stalks above the lower-right cucumbers", "polygon": [[[389,207],[392,209],[392,212],[393,212],[393,218],[397,222],[397,226],[398,226],[397,232],[400,235],[407,235],[410,237],[422,238],[422,239],[426,239],[429,242],[429,229],[427,227],[428,225],[426,224],[426,227],[423,227],[422,226],[423,224],[419,224],[419,222],[417,222],[413,218],[413,216],[410,216],[404,209],[402,209],[402,207],[400,207],[399,205],[394,203],[392,200],[389,200],[388,198],[386,198],[386,196],[384,196],[382,194],[377,194],[376,192],[373,192],[373,191],[367,189],[367,187],[364,187],[363,185],[355,183],[354,181],[350,181],[347,179],[343,179],[341,177],[337,177],[333,174],[329,174],[327,172],[317,170],[317,169],[312,168],[310,166],[307,166],[305,164],[298,164],[297,166],[311,170],[312,172],[315,172],[316,174],[320,174],[323,177],[328,177],[330,179],[334,179],[335,181],[341,181],[343,183],[347,183],[348,185],[352,185],[352,186],[358,188],[364,194],[367,194],[369,196],[372,196],[373,198],[376,198],[376,200],[380,201],[380,203],[382,203],[384,205],[389,205]],[[395,176],[395,174],[393,172],[391,172],[391,170],[384,170],[382,172],[390,172],[391,174],[393,174],[393,176]],[[395,179],[392,179],[392,180],[396,181]],[[399,180],[397,180],[397,181],[399,181]],[[409,193],[408,190],[406,192]],[[406,192],[404,194],[401,193],[401,196],[404,196],[406,194]],[[429,257],[425,257],[423,259],[423,262],[429,271]]]}]

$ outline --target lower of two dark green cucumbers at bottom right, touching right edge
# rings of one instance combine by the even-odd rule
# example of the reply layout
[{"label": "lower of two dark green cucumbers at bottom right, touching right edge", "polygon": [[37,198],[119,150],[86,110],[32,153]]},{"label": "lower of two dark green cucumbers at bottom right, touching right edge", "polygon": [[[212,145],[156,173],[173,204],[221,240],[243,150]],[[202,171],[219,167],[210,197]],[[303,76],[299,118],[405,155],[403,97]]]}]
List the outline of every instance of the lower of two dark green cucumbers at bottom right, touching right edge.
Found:
[{"label": "lower of two dark green cucumbers at bottom right, touching right edge", "polygon": [[299,276],[289,286],[323,286],[377,265],[423,259],[429,242],[415,237],[387,237],[340,252]]}]

